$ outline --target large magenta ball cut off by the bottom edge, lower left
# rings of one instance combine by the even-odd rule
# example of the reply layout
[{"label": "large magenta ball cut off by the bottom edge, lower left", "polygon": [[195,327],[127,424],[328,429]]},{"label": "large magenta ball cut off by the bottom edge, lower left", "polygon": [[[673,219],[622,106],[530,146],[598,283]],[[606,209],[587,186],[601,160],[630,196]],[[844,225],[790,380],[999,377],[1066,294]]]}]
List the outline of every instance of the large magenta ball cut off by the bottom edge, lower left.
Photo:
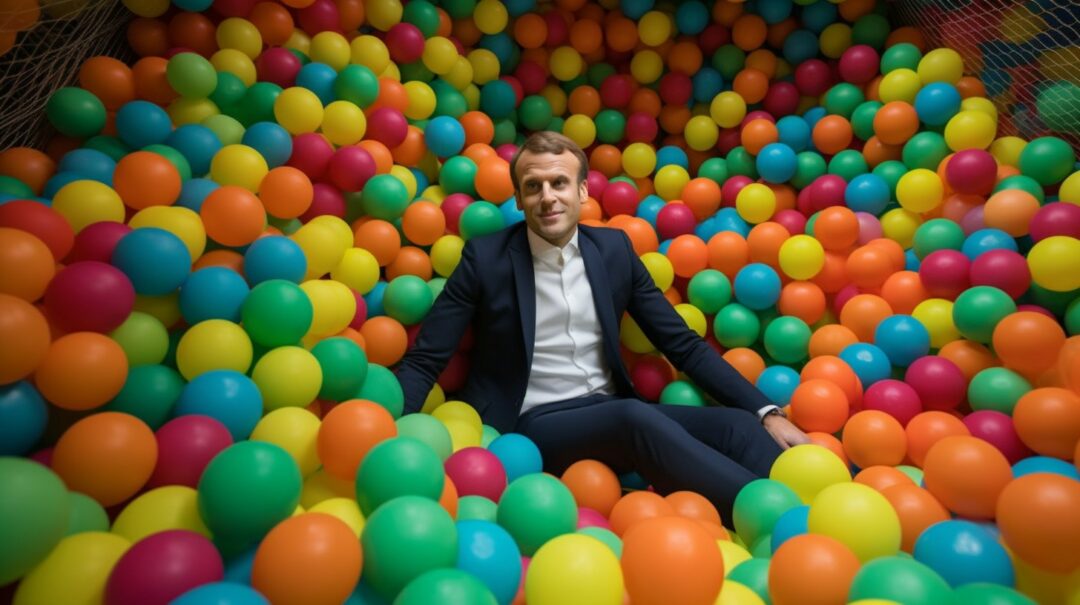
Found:
[{"label": "large magenta ball cut off by the bottom edge, lower left", "polygon": [[167,605],[185,592],[220,581],[214,543],[187,529],[151,534],[120,557],[105,584],[107,605]]}]

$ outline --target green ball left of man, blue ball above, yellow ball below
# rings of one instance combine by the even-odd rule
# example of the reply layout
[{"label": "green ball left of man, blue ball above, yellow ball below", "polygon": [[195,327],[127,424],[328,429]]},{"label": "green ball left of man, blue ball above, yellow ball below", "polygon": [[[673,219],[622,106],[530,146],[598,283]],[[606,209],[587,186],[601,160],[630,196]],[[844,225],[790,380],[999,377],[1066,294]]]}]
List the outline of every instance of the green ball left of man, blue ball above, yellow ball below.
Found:
[{"label": "green ball left of man, blue ball above, yellow ball below", "polygon": [[296,345],[311,328],[314,308],[300,286],[286,280],[267,280],[244,298],[240,317],[252,340],[264,347]]}]

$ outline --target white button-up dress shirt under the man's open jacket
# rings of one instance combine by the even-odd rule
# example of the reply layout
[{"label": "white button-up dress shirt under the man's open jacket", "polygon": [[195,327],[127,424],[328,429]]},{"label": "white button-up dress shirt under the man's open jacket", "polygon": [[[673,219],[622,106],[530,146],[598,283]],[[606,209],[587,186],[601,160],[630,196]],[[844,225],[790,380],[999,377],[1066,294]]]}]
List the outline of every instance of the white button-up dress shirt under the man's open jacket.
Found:
[{"label": "white button-up dress shirt under the man's open jacket", "polygon": [[536,341],[522,414],[544,403],[613,393],[578,232],[563,247],[527,230],[536,279]]}]

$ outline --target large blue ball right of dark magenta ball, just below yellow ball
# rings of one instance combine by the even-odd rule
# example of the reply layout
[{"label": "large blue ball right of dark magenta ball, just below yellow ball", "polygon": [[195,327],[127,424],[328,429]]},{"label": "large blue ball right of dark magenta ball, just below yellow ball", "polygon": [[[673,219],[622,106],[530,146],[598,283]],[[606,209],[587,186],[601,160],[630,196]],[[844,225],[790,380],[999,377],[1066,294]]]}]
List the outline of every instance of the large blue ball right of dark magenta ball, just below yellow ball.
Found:
[{"label": "large blue ball right of dark magenta ball, just below yellow ball", "polygon": [[191,253],[173,233],[141,227],[120,239],[112,251],[112,265],[127,275],[136,293],[161,296],[188,279]]}]

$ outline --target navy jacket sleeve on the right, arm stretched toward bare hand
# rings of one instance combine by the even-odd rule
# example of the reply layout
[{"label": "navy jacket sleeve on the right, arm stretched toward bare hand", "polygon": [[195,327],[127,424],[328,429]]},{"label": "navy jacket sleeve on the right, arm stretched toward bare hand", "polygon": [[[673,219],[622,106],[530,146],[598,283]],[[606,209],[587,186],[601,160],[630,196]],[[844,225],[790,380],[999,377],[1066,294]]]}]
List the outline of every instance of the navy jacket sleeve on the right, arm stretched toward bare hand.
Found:
[{"label": "navy jacket sleeve on the right, arm stretched toward bare hand", "polygon": [[755,414],[771,405],[761,391],[686,325],[634,253],[630,239],[625,234],[622,239],[633,282],[626,310],[649,341],[713,399]]}]

